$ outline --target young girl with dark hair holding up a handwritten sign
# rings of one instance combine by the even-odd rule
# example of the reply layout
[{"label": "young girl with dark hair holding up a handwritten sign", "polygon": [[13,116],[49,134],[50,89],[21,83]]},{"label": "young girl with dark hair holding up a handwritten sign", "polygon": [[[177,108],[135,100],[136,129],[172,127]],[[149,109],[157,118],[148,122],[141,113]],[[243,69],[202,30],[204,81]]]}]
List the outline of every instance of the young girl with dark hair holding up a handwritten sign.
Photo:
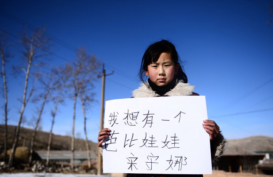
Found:
[{"label": "young girl with dark hair holding up a handwritten sign", "polygon": [[[175,46],[167,40],[155,42],[147,48],[142,58],[139,77],[142,84],[138,89],[133,91],[133,98],[199,95],[193,92],[194,86],[187,83],[187,76],[180,66]],[[145,81],[146,77],[149,77],[148,82]],[[226,139],[224,139],[220,133],[219,126],[214,121],[204,120],[203,122],[203,128],[209,134],[211,156],[214,162],[223,155]],[[99,147],[102,147],[103,139],[108,137],[108,135],[110,135],[110,129],[108,128],[104,128],[99,132]],[[202,145],[200,144],[200,146]],[[127,174],[127,177],[184,176],[193,177],[203,175]]]}]

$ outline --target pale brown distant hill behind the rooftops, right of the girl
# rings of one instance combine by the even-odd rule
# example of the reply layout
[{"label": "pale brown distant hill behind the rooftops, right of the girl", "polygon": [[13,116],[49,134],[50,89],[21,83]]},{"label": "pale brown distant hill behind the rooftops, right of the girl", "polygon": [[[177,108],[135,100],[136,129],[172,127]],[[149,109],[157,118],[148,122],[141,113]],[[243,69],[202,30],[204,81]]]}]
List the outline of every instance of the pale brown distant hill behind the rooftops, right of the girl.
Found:
[{"label": "pale brown distant hill behind the rooftops, right of the girl", "polygon": [[229,139],[228,147],[242,147],[247,150],[270,150],[273,151],[273,137],[250,136],[243,139]]}]

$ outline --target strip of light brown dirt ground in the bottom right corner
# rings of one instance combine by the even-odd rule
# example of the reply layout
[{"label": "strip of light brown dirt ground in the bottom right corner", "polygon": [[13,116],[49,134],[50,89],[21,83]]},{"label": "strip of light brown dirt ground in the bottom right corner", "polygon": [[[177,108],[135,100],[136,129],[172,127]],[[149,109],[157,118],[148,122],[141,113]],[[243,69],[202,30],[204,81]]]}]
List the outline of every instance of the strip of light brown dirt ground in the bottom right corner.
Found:
[{"label": "strip of light brown dirt ground in the bottom right corner", "polygon": [[204,177],[273,177],[273,175],[256,175],[253,173],[231,173],[220,170],[213,170],[212,175],[203,175]]}]

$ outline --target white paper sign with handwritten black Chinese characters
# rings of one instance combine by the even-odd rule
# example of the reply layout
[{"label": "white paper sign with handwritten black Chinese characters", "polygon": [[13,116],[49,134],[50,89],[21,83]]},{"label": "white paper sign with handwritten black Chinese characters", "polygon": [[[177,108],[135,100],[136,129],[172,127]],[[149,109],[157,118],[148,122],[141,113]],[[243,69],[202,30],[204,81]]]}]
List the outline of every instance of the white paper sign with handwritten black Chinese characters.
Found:
[{"label": "white paper sign with handwritten black Chinese characters", "polygon": [[109,100],[104,173],[212,174],[205,96]]}]

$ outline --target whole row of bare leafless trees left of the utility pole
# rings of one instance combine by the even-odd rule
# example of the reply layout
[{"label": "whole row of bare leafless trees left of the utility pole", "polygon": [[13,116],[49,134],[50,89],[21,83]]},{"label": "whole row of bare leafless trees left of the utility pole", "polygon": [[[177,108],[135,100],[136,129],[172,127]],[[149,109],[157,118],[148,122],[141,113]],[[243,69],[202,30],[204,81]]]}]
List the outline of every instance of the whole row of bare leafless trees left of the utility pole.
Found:
[{"label": "whole row of bare leafless trees left of the utility pole", "polygon": [[[8,162],[9,167],[13,166],[14,154],[18,145],[20,136],[20,126],[24,119],[24,111],[29,102],[35,103],[36,116],[32,118],[34,123],[33,133],[31,137],[29,165],[32,163],[33,145],[35,135],[39,128],[42,113],[45,105],[53,103],[54,109],[51,111],[51,128],[48,139],[47,159],[46,164],[49,163],[50,145],[52,141],[53,126],[56,118],[58,107],[61,103],[65,103],[66,99],[72,99],[73,103],[73,120],[72,136],[71,136],[71,167],[74,168],[74,149],[75,149],[75,119],[76,106],[79,104],[82,108],[84,118],[84,132],[86,140],[86,149],[88,157],[88,166],[90,164],[90,147],[86,132],[86,110],[90,104],[94,102],[94,82],[100,72],[101,63],[96,60],[96,57],[90,55],[84,47],[77,49],[75,59],[71,63],[65,63],[61,66],[49,67],[47,60],[51,53],[52,43],[49,35],[45,33],[44,28],[38,28],[33,31],[23,30],[18,33],[16,40],[12,41],[10,36],[5,31],[0,31],[0,52],[2,58],[2,78],[3,78],[3,95],[5,99],[4,120],[5,120],[5,142],[4,142],[4,161]],[[20,49],[16,53],[20,53],[21,59],[18,62],[13,62],[14,65],[10,68],[6,67],[6,63],[13,61],[11,50],[14,51],[14,46]],[[9,120],[9,105],[8,97],[9,87],[7,77],[7,70],[12,72],[13,77],[24,78],[24,88],[22,90],[22,99],[20,99],[21,110],[19,114],[18,124],[16,126],[15,137],[11,153],[7,155],[7,125]],[[79,103],[78,103],[79,102]]]}]

